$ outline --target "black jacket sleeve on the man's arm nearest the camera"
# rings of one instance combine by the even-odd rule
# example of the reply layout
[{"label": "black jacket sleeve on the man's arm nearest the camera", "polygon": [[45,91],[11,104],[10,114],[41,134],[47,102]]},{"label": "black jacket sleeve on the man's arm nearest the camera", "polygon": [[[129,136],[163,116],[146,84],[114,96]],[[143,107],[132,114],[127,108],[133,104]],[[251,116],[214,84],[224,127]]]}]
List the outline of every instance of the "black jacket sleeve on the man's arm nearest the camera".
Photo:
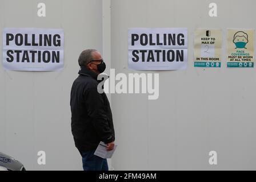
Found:
[{"label": "black jacket sleeve on the man's arm nearest the camera", "polygon": [[98,93],[97,84],[93,84],[90,88],[84,90],[83,94],[87,113],[99,138],[104,143],[113,142],[113,131],[110,128],[109,121],[107,121],[105,102],[101,94]]}]

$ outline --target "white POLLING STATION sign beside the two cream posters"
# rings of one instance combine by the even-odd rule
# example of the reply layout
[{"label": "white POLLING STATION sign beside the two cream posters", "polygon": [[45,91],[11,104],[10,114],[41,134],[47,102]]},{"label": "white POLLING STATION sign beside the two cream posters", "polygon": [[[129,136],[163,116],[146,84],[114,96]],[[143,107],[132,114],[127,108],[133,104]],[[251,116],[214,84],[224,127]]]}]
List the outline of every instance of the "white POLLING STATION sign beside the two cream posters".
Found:
[{"label": "white POLLING STATION sign beside the two cream posters", "polygon": [[130,69],[186,69],[187,28],[129,28],[128,56]]}]

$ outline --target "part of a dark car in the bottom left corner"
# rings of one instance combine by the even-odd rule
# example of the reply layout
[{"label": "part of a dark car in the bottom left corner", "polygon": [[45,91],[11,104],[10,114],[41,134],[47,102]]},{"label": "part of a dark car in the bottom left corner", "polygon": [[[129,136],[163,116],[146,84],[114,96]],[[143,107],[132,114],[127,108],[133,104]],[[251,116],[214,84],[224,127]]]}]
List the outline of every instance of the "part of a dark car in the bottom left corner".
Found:
[{"label": "part of a dark car in the bottom left corner", "polygon": [[20,171],[23,164],[18,160],[13,159],[11,156],[0,152],[0,166],[7,168],[10,171]]}]

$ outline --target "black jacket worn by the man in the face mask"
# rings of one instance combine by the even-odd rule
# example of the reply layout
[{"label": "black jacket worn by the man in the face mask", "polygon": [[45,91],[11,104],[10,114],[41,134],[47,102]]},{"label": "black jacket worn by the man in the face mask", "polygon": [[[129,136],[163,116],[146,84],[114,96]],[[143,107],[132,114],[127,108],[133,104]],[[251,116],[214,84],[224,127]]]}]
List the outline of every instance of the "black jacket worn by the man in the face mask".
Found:
[{"label": "black jacket worn by the man in the face mask", "polygon": [[79,152],[94,150],[99,142],[115,140],[113,118],[106,94],[98,93],[97,74],[81,67],[70,94],[71,130]]}]

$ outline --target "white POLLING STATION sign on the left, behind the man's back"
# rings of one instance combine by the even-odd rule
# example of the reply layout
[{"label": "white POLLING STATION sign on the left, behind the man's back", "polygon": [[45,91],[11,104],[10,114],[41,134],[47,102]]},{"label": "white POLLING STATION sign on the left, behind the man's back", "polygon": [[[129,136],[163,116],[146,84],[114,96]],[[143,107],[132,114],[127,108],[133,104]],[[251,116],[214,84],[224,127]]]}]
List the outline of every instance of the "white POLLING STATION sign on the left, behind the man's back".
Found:
[{"label": "white POLLING STATION sign on the left, behind the man's back", "polygon": [[13,71],[58,71],[63,68],[62,29],[5,28],[3,67]]}]

